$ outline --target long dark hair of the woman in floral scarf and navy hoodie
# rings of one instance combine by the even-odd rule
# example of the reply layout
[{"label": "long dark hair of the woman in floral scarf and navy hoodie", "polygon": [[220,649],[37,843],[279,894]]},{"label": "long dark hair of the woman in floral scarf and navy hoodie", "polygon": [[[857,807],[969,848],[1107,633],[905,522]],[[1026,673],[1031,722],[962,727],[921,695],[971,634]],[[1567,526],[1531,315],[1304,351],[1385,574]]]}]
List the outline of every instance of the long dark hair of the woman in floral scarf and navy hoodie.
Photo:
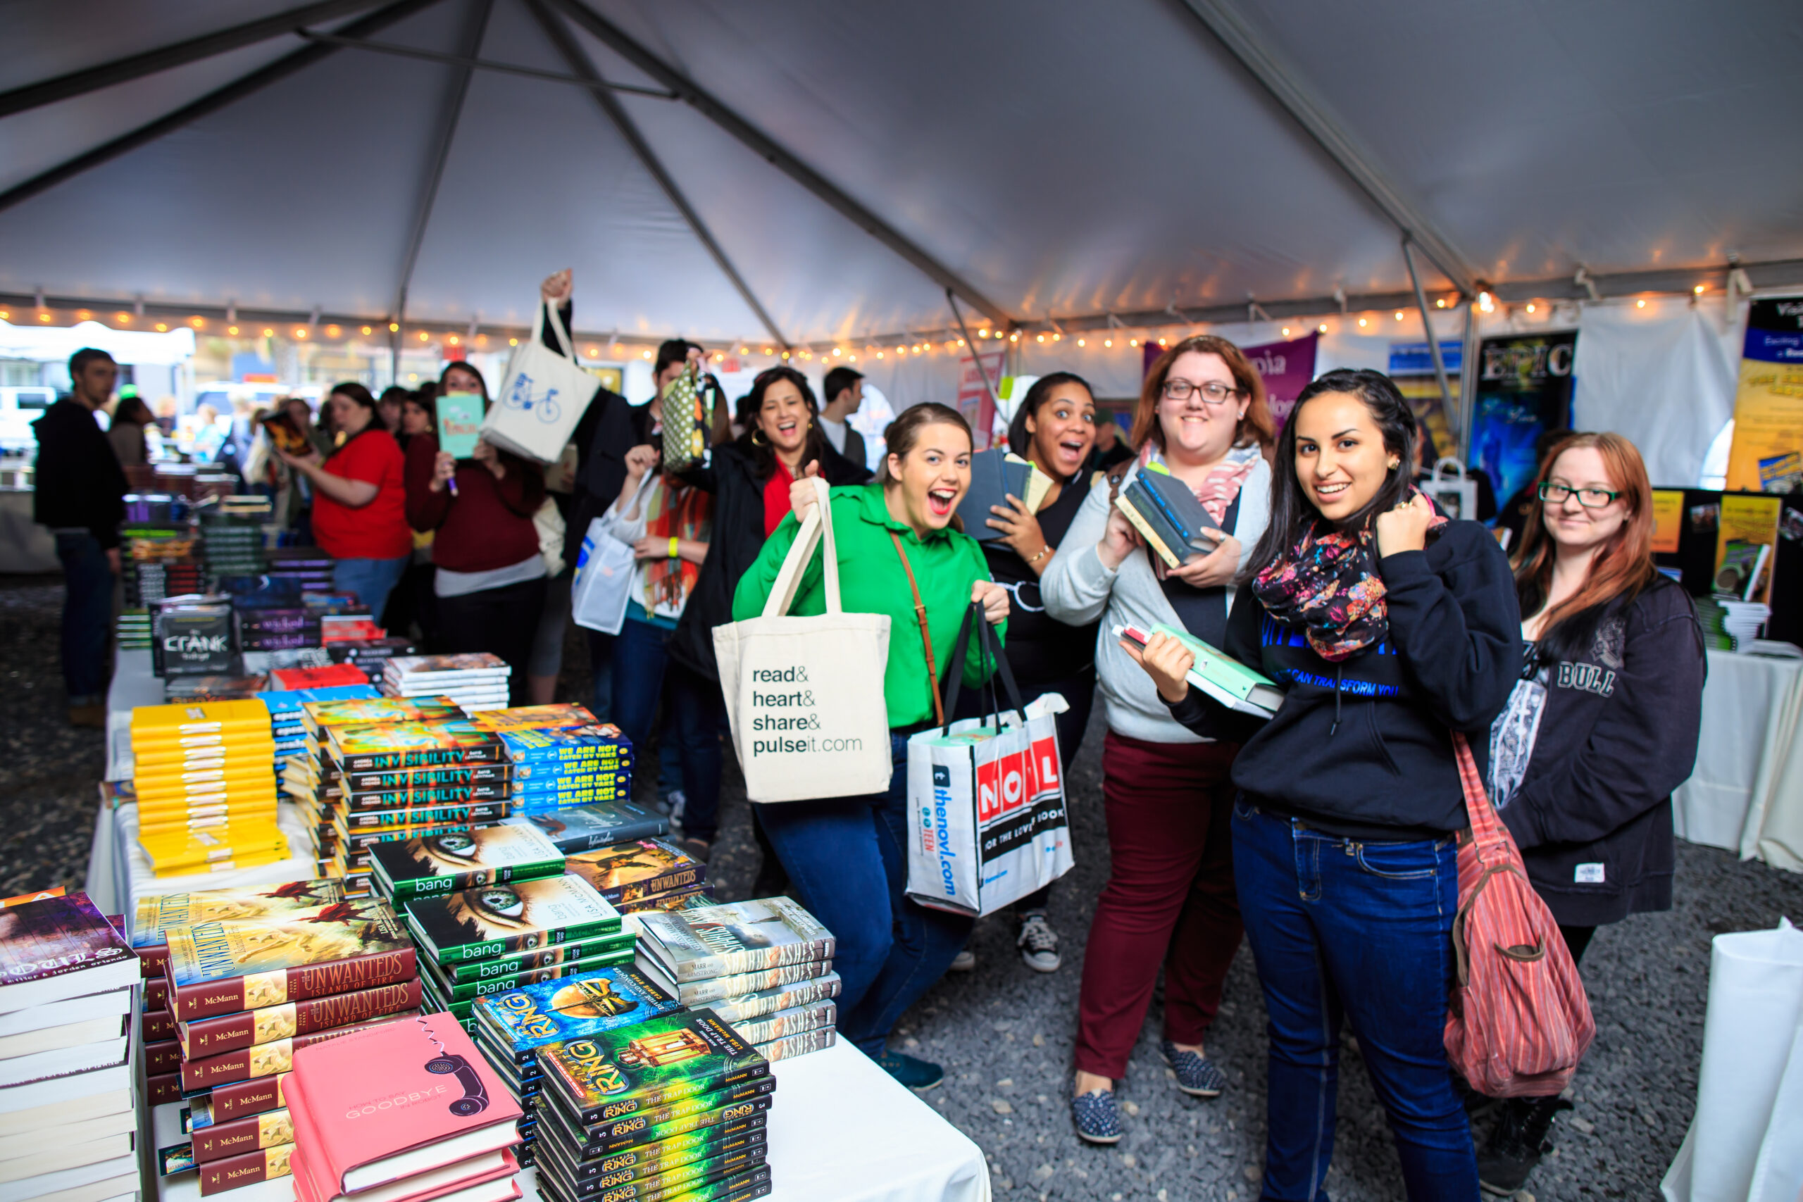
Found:
[{"label": "long dark hair of the woman in floral scarf and navy hoodie", "polygon": [[1415,465],[1415,413],[1403,400],[1403,393],[1397,391],[1396,382],[1381,371],[1354,371],[1350,368],[1329,371],[1302,389],[1302,395],[1296,396],[1296,407],[1289,411],[1289,420],[1284,422],[1284,433],[1277,440],[1277,461],[1271,465],[1271,523],[1264,528],[1264,535],[1258,537],[1258,546],[1253,548],[1251,559],[1246,560],[1240,580],[1251,580],[1289,555],[1289,550],[1302,539],[1302,532],[1322,515],[1296,478],[1296,418],[1302,416],[1302,405],[1325,393],[1358,396],[1383,434],[1383,449],[1397,458],[1383,487],[1377,488],[1377,496],[1358,514],[1340,523],[1340,528],[1361,530],[1372,514],[1394,508],[1408,497]]}]

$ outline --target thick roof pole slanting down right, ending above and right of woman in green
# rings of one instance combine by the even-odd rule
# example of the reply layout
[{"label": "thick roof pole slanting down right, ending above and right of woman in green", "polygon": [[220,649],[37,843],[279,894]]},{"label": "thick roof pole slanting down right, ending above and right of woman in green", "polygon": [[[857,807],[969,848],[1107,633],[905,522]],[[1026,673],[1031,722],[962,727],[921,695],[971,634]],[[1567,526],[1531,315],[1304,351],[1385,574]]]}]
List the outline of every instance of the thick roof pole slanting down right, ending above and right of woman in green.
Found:
[{"label": "thick roof pole slanting down right, ending above and right of woman in green", "polygon": [[948,267],[934,260],[927,250],[909,241],[898,229],[883,222],[880,216],[865,209],[862,204],[853,200],[847,193],[828,182],[824,175],[810,168],[806,162],[797,159],[788,148],[777,144],[772,137],[757,130],[750,121],[736,114],[734,110],[721,105],[718,99],[703,92],[692,79],[683,76],[680,70],[660,59],[656,54],[645,47],[633,41],[624,29],[606,20],[586,4],[577,0],[552,0],[564,16],[586,29],[590,34],[599,38],[608,49],[624,58],[627,63],[645,72],[665,88],[674,92],[685,103],[694,106],[703,117],[718,124],[721,130],[745,142],[759,159],[773,166],[775,169],[788,175],[792,180],[806,187],[810,193],[829,204],[853,225],[867,232],[876,241],[883,243],[903,260],[912,263],[920,272],[932,279],[941,288],[952,288],[957,296],[965,297],[965,303],[981,314],[986,314],[990,321],[999,326],[1011,326],[1013,319],[981,292],[977,292],[970,283],[954,274]]}]

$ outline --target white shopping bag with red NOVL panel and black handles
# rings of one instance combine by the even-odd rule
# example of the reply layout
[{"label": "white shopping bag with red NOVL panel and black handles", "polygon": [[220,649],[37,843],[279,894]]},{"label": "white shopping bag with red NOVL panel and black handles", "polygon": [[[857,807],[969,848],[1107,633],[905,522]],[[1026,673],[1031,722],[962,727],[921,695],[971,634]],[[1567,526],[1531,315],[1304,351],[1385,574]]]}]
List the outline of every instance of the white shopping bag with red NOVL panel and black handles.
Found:
[{"label": "white shopping bag with red NOVL panel and black handles", "polygon": [[992,652],[983,607],[972,604],[945,676],[947,714],[957,706],[968,640],[979,654],[993,654],[1011,708],[1001,710],[992,692],[984,717],[909,739],[907,894],[923,906],[983,917],[1071,870],[1055,719],[1069,706],[1055,692],[1020,705],[1008,661]]}]

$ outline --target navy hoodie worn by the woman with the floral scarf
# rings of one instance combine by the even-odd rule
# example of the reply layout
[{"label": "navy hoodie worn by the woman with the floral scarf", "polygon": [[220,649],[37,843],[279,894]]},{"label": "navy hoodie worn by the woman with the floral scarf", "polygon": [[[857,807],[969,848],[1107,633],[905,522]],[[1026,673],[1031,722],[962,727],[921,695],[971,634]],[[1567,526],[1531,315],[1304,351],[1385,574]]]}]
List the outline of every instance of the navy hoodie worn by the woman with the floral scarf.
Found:
[{"label": "navy hoodie worn by the woman with the floral scarf", "polygon": [[[1484,526],[1453,521],[1424,551],[1377,560],[1390,638],[1334,665],[1278,625],[1249,587],[1233,596],[1226,651],[1284,688],[1269,721],[1233,714],[1244,741],[1233,784],[1260,806],[1331,834],[1435,838],[1468,824],[1450,730],[1482,769],[1489,724],[1522,665],[1522,615],[1509,560]],[[1206,706],[1206,708],[1204,708]],[[1222,706],[1199,688],[1172,706],[1203,726]]]}]

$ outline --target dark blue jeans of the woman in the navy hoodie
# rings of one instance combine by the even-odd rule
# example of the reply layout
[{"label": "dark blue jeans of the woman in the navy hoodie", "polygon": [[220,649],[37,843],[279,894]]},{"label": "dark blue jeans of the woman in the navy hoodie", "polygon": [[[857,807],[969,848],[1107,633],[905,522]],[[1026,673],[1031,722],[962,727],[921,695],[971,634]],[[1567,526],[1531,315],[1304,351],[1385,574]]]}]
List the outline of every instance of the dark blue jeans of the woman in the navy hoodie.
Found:
[{"label": "dark blue jeans of the woman in the navy hoodie", "polygon": [[1345,1016],[1408,1197],[1477,1202],[1471,1126],[1444,1043],[1457,842],[1334,838],[1242,795],[1233,876],[1271,1040],[1262,1197],[1327,1200]]}]

